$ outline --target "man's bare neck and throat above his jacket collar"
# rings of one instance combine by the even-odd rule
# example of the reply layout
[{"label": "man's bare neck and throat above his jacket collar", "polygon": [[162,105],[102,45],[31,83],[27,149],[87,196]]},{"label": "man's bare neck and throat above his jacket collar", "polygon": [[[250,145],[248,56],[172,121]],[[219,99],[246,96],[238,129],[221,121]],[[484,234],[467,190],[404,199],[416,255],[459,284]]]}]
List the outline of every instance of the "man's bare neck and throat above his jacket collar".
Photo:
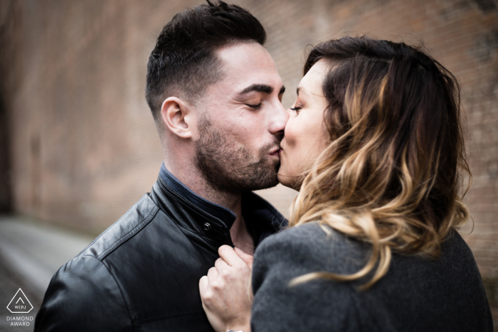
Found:
[{"label": "man's bare neck and throat above his jacket collar", "polygon": [[235,222],[233,222],[230,228],[233,245],[243,252],[253,255],[254,240],[248,232],[242,215],[242,194],[226,193],[213,188],[202,176],[201,171],[195,167],[175,167],[174,165],[166,164],[166,161],[164,161],[164,164],[174,177],[181,181],[181,183],[184,183],[185,186],[189,187],[198,196],[228,208],[235,213],[237,218],[235,218]]}]

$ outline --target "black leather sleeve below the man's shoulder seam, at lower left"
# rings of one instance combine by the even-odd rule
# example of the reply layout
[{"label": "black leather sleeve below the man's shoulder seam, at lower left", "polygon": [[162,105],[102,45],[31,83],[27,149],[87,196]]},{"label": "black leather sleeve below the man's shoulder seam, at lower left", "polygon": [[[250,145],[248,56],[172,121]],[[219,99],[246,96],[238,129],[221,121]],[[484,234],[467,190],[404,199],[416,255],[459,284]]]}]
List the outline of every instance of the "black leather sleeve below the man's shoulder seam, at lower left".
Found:
[{"label": "black leather sleeve below the man's shoulder seam, at lower left", "polygon": [[131,321],[109,269],[95,257],[79,256],[52,277],[35,331],[132,331]]}]

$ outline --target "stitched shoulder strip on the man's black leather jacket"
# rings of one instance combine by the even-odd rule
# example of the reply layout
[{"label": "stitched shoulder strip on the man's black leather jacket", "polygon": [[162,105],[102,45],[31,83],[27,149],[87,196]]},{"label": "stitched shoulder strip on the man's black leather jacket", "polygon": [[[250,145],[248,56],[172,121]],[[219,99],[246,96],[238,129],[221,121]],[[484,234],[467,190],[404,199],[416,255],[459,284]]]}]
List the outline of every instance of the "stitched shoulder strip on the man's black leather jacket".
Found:
[{"label": "stitched shoulder strip on the man's black leather jacket", "polygon": [[99,260],[105,259],[113,250],[147,226],[157,215],[158,210],[159,206],[149,194],[145,194],[75,258],[92,256]]}]

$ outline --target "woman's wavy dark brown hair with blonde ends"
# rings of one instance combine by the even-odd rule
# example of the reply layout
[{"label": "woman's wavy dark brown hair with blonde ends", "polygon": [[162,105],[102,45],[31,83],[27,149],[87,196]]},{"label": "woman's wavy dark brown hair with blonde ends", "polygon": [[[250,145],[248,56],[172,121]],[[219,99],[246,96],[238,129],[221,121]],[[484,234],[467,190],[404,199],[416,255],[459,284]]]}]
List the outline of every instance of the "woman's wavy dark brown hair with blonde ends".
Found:
[{"label": "woman's wavy dark brown hair with blonde ends", "polygon": [[329,142],[303,180],[290,226],[319,220],[372,249],[359,272],[315,272],[291,284],[368,274],[361,286],[368,289],[387,273],[393,251],[438,257],[448,232],[469,216],[459,192],[462,175],[472,178],[460,88],[443,65],[405,43],[365,36],[320,43],[304,74],[318,61],[329,64]]}]

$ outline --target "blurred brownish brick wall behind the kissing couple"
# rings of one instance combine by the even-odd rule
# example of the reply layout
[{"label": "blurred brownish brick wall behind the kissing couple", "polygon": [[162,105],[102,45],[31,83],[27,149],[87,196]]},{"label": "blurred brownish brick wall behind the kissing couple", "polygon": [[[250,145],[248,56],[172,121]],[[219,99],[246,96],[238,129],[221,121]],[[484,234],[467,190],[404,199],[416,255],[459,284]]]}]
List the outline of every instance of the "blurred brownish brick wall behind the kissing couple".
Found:
[{"label": "blurred brownish brick wall behind the kissing couple", "polygon": [[[304,46],[334,36],[421,39],[457,75],[474,175],[465,240],[484,277],[498,277],[497,0],[233,2],[267,29],[285,107]],[[95,233],[149,191],[162,154],[144,100],[147,59],[162,26],[200,3],[0,1],[0,206]],[[284,212],[295,196],[260,194]]]}]

